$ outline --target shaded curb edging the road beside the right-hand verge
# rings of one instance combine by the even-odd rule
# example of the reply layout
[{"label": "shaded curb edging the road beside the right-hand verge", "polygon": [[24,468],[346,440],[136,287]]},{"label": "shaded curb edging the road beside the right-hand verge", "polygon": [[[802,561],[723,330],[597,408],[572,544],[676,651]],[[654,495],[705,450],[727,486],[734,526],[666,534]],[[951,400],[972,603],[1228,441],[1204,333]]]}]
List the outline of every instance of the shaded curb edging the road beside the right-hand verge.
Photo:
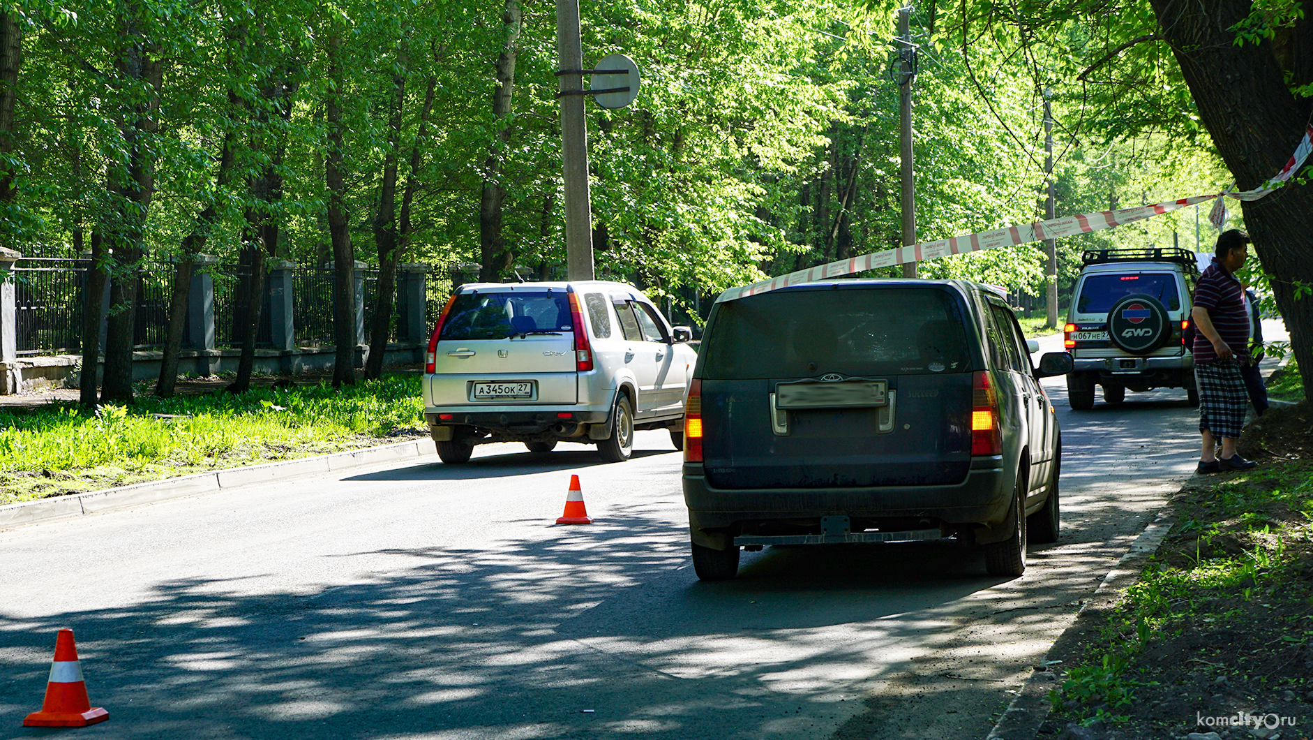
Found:
[{"label": "shaded curb edging the road beside the right-hand verge", "polygon": [[[1130,549],[1103,577],[1099,588],[1085,602],[1071,624],[1053,641],[1045,657],[1067,652],[1070,643],[1075,641],[1077,636],[1083,632],[1082,623],[1113,607],[1121,593],[1140,580],[1145,561],[1158,552],[1158,547],[1167,538],[1174,523],[1174,517],[1166,510],[1159,511],[1149,522],[1136,542],[1130,543]],[[1046,662],[1033,666],[1031,676],[1022,685],[1022,690],[1018,691],[1016,698],[1007,706],[1003,716],[998,719],[998,724],[990,729],[985,740],[1033,740],[1040,732],[1040,726],[1049,716],[1048,694],[1056,687],[1057,676],[1048,669]]]}]

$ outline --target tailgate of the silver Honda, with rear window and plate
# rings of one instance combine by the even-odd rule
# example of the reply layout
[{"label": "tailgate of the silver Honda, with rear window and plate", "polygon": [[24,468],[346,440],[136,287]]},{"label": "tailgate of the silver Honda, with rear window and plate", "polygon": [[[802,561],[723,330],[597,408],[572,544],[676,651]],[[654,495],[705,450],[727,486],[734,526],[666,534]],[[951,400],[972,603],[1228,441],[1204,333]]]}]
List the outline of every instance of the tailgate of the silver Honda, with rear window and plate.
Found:
[{"label": "tailgate of the silver Honda, with rear window and plate", "polygon": [[437,340],[435,406],[575,404],[574,329],[562,287],[457,294]]}]

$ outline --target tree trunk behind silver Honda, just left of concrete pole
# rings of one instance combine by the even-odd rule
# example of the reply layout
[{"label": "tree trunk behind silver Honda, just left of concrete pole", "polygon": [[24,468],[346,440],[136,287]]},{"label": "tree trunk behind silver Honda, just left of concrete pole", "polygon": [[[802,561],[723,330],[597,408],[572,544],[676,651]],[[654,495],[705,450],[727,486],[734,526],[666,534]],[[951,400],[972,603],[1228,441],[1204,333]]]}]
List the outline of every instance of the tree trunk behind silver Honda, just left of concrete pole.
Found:
[{"label": "tree trunk behind silver Honda, just left of concrete pole", "polygon": [[508,254],[502,238],[502,205],[506,201],[506,187],[502,184],[502,149],[511,141],[507,118],[511,116],[511,100],[515,92],[516,43],[520,39],[520,0],[506,0],[502,12],[502,25],[506,41],[496,60],[496,89],[492,92],[492,116],[500,130],[492,142],[487,159],[483,160],[483,193],[479,198],[479,280],[495,283],[507,267],[515,264],[515,255]]}]

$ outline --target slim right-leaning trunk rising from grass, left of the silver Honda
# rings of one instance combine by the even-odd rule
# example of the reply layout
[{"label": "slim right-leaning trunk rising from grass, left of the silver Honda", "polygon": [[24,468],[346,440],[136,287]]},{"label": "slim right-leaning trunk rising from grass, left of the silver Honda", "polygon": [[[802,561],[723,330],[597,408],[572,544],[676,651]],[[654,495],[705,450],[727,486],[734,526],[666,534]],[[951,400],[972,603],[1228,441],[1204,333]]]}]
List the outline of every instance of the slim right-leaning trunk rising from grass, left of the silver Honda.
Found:
[{"label": "slim right-leaning trunk rising from grass, left of the silver Honda", "polygon": [[[406,68],[404,53],[397,68]],[[393,75],[393,112],[387,120],[387,152],[383,155],[383,181],[378,189],[378,213],[374,214],[374,246],[378,248],[378,283],[374,285],[374,319],[369,329],[369,359],[365,377],[383,375],[387,339],[391,335],[393,305],[397,296],[397,160],[400,155],[402,108],[406,103],[406,74]]]}]

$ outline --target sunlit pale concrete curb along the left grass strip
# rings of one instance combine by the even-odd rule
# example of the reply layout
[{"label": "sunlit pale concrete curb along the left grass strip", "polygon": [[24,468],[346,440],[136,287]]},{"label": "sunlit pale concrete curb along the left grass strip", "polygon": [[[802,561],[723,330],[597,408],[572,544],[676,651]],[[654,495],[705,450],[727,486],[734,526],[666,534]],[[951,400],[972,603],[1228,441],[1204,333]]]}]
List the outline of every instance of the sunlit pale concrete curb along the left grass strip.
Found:
[{"label": "sunlit pale concrete curb along the left grass strip", "polygon": [[161,481],[147,481],[119,488],[109,488],[105,490],[92,490],[88,493],[24,501],[22,503],[9,503],[7,506],[0,506],[0,531],[24,524],[34,524],[37,522],[49,522],[51,519],[101,514],[104,511],[114,511],[118,509],[131,509],[143,503],[197,496],[225,488],[270,482],[311,473],[328,473],[332,471],[355,468],[357,465],[369,465],[373,463],[408,460],[428,453],[421,450],[421,446],[424,446],[425,442],[427,440],[398,442],[379,447],[365,447],[362,450],[318,455],[315,457],[280,460],[277,463],[264,463],[261,465],[251,465],[247,468],[227,468],[223,471],[210,471],[207,473],[164,478]]}]

